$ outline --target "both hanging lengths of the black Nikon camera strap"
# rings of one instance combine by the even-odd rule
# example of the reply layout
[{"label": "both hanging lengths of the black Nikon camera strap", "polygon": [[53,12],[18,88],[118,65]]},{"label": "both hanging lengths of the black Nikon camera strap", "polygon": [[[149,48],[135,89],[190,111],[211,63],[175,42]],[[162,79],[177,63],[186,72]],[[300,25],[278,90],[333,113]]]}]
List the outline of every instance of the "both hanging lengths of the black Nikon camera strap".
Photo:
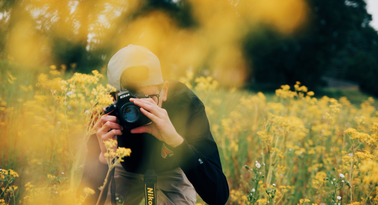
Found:
[{"label": "both hanging lengths of the black Nikon camera strap", "polygon": [[[150,164],[148,166],[148,169],[146,173],[144,173],[143,181],[144,181],[144,201],[145,205],[156,205],[156,182],[158,181],[158,176],[155,173],[155,170],[153,170],[152,167],[152,156],[153,156],[153,136],[150,138]],[[113,161],[114,163],[114,161]],[[112,202],[112,205],[117,205],[116,202],[116,182],[114,179],[114,173],[115,168],[113,168],[112,172],[110,173],[112,175],[112,183],[110,184],[110,200]]]}]

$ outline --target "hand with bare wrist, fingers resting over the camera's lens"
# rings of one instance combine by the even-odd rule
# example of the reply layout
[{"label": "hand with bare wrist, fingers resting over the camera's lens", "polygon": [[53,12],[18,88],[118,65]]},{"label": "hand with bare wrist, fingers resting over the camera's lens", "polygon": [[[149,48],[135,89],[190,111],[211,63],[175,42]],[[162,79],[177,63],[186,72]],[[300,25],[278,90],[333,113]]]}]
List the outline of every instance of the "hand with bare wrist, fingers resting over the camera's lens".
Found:
[{"label": "hand with bare wrist, fingers resting over the camera's lens", "polygon": [[151,124],[134,128],[131,133],[150,133],[171,147],[183,143],[184,139],[176,132],[167,111],[156,105],[152,98],[130,98],[130,101],[141,107],[141,112],[152,120]]}]

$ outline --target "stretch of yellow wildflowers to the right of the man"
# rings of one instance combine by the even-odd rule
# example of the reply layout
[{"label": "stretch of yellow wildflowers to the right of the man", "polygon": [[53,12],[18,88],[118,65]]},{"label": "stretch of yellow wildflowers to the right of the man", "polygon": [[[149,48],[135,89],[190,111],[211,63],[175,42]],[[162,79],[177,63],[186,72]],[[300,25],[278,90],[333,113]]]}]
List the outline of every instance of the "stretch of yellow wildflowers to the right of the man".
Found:
[{"label": "stretch of yellow wildflowers to the right of the man", "polygon": [[[345,97],[314,98],[314,92],[299,82],[294,90],[281,86],[269,101],[262,93],[236,95],[232,90],[217,93],[192,87],[204,102],[225,163],[231,204],[245,201],[240,193],[250,192],[245,190],[248,183],[244,180],[250,173],[243,171],[242,165],[254,167],[255,161],[266,164],[260,168],[264,178],[259,187],[278,185],[275,203],[328,204],[334,190],[325,178],[332,180],[340,173],[342,180],[350,183],[350,188],[345,185],[336,192],[342,192],[342,203],[367,200],[366,204],[372,204],[378,195],[369,186],[378,178],[374,171],[378,170],[378,112],[372,98],[358,109]],[[294,195],[284,194],[290,192],[283,188],[287,186],[298,187],[293,193],[301,192],[303,197],[293,200]],[[255,191],[264,192],[260,188]],[[256,204],[265,204],[267,199],[260,192]]]}]

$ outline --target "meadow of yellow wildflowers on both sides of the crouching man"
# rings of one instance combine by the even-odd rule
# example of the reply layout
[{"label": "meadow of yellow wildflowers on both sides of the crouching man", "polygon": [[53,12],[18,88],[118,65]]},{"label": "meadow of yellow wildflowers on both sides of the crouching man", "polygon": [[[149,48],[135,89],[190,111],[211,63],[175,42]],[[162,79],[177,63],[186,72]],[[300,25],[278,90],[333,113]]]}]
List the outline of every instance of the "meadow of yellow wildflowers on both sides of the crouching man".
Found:
[{"label": "meadow of yellow wildflowers on both sides of the crouching man", "polygon": [[[1,66],[0,205],[81,204],[76,190],[85,142],[94,133],[91,116],[111,102],[104,70],[73,74],[65,66]],[[372,97],[355,105],[346,97],[315,98],[306,82],[264,95],[222,89],[211,77],[191,72],[179,80],[206,107],[229,204],[378,203]],[[199,198],[197,204],[204,202]]]}]

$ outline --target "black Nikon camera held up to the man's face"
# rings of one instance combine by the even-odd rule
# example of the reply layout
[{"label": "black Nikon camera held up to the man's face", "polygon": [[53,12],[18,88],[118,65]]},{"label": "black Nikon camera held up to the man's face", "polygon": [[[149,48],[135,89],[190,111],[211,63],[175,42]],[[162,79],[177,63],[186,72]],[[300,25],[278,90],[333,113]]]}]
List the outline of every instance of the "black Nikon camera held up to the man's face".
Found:
[{"label": "black Nikon camera held up to the man's face", "polygon": [[117,101],[105,109],[105,114],[116,116],[124,129],[131,130],[152,122],[150,118],[143,115],[139,106],[130,102],[130,98],[151,98],[150,96],[144,95],[143,91],[133,94],[129,90],[122,90],[117,97]]}]

